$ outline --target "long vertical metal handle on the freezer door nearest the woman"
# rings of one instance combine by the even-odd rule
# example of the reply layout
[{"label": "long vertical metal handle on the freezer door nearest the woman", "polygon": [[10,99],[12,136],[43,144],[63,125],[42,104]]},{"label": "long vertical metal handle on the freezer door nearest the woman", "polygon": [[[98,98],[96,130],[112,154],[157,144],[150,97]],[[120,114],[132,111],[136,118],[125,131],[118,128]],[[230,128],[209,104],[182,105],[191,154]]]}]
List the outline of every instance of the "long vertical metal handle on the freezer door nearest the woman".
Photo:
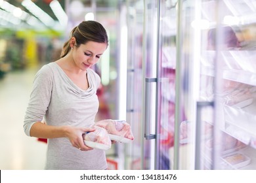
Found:
[{"label": "long vertical metal handle on the freezer door nearest the woman", "polygon": [[[157,78],[146,78],[145,86],[145,122],[144,122],[144,137],[146,140],[156,139],[156,134],[150,133],[150,126],[152,125],[152,116],[156,116],[156,107],[152,106],[153,98],[156,99],[156,95],[152,95],[152,83],[157,82]],[[156,105],[156,101],[153,101]],[[154,114],[152,114],[154,112]]]}]

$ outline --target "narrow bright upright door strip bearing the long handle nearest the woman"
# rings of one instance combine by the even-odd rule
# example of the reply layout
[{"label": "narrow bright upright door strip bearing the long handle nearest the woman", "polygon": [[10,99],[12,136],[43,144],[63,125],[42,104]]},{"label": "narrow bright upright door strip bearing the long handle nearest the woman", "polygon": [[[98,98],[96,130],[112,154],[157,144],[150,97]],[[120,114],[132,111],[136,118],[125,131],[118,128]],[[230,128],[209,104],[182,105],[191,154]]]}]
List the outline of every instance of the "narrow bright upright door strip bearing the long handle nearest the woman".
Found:
[{"label": "narrow bright upright door strip bearing the long handle nearest the woman", "polygon": [[143,169],[156,166],[158,1],[144,1],[142,78],[144,80]]}]

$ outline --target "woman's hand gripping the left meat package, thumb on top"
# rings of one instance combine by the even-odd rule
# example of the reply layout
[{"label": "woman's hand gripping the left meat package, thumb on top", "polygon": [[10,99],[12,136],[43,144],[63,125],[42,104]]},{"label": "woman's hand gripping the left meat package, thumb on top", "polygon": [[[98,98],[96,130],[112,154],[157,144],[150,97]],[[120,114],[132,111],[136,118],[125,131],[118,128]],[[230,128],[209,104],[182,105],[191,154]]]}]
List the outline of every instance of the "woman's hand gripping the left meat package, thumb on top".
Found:
[{"label": "woman's hand gripping the left meat package, thumb on top", "polygon": [[89,146],[85,145],[85,142],[83,141],[83,135],[87,132],[95,131],[95,129],[89,128],[89,127],[67,126],[66,131],[67,131],[66,136],[70,140],[72,146],[83,151],[93,150],[93,148],[90,148]]}]

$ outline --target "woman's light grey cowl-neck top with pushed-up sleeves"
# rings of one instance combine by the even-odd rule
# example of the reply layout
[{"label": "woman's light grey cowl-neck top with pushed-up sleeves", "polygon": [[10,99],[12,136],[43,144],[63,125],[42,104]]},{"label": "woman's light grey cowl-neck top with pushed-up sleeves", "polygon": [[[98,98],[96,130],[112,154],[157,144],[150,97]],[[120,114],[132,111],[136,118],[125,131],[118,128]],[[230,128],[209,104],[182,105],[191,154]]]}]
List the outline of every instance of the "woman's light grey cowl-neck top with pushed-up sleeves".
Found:
[{"label": "woman's light grey cowl-neck top with pushed-up sleeves", "polygon": [[[45,116],[47,125],[88,127],[98,112],[96,90],[100,77],[87,69],[89,88],[81,90],[55,62],[44,65],[35,75],[33,90],[24,118],[24,131],[30,136],[35,122]],[[68,138],[48,139],[45,169],[106,169],[104,150],[78,150]]]}]

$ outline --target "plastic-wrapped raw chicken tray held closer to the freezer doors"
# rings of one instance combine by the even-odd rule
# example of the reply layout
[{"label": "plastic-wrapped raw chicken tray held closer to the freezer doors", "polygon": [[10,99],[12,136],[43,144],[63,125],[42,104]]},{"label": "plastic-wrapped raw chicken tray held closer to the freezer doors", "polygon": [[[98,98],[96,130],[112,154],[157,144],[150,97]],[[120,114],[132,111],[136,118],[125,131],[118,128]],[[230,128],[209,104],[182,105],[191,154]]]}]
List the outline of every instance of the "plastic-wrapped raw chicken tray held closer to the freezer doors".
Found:
[{"label": "plastic-wrapped raw chicken tray held closer to the freezer doors", "polygon": [[131,126],[125,120],[101,120],[96,125],[104,127],[112,141],[127,143],[134,139]]}]

